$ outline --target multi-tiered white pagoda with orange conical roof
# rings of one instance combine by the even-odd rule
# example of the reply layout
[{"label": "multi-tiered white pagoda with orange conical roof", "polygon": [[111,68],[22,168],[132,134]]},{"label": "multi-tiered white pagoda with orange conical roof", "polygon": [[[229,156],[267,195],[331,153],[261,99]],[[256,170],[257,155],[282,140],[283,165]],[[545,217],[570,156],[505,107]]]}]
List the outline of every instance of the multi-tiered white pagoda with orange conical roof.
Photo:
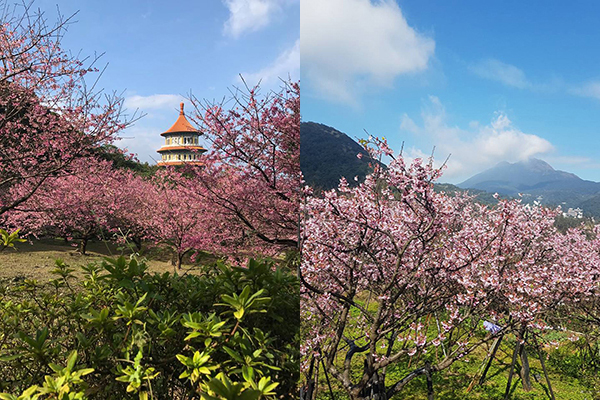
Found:
[{"label": "multi-tiered white pagoda with orange conical roof", "polygon": [[157,150],[161,156],[161,160],[157,163],[160,166],[202,164],[200,155],[206,149],[200,146],[198,141],[201,133],[185,117],[183,103],[180,107],[177,121],[169,130],[160,134],[165,138],[164,146]]}]

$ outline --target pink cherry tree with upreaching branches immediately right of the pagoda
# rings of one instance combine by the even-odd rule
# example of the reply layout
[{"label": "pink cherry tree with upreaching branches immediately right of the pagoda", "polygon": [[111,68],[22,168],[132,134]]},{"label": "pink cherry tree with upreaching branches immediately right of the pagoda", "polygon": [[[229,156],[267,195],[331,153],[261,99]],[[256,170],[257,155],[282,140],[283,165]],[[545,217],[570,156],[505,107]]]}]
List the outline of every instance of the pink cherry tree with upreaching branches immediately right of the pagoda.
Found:
[{"label": "pink cherry tree with upreaching branches immediately right of the pagoda", "polygon": [[286,82],[264,96],[258,86],[236,89],[222,103],[191,100],[210,150],[186,185],[219,216],[228,251],[277,254],[297,248],[299,83]]}]

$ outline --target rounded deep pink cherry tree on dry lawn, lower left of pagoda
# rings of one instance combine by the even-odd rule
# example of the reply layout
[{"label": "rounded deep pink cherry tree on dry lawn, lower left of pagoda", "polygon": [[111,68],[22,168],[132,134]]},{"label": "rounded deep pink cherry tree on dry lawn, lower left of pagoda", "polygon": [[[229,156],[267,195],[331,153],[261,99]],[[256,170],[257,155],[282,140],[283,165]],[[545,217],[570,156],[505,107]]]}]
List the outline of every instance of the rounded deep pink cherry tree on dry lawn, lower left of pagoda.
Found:
[{"label": "rounded deep pink cherry tree on dry lawn, lower left of pagoda", "polygon": [[140,203],[134,191],[141,178],[116,170],[109,161],[79,159],[70,174],[49,177],[27,201],[8,212],[8,222],[25,234],[79,241],[86,253],[90,239],[131,232],[133,210]]}]

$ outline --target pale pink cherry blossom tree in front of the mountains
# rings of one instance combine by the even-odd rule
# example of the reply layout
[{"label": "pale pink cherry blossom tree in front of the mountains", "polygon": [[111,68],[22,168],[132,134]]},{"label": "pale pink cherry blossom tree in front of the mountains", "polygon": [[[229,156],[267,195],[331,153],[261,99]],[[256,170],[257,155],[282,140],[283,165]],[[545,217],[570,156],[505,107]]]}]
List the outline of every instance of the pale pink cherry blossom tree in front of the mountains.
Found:
[{"label": "pale pink cherry blossom tree in front of the mountains", "polygon": [[[389,399],[420,375],[432,398],[433,373],[499,335],[524,341],[550,327],[548,313],[565,299],[597,285],[591,242],[557,232],[556,211],[437,193],[432,162],[407,165],[378,145],[372,154],[391,157],[387,169],[374,163],[364,183],[342,180],[303,207],[308,392],[322,367],[352,399]],[[498,329],[485,335],[484,322]],[[398,363],[412,371],[390,381]]]}]

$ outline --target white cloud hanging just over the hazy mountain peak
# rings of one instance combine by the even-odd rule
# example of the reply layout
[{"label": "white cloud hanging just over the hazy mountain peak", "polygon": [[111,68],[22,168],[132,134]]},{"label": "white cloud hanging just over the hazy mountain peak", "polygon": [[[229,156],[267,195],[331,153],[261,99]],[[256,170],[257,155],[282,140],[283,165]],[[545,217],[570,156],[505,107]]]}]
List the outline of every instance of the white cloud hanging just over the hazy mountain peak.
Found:
[{"label": "white cloud hanging just over the hazy mountain peak", "polygon": [[[516,162],[554,151],[554,146],[549,141],[522,132],[504,113],[496,113],[487,125],[471,122],[470,128],[466,130],[450,126],[444,106],[437,97],[430,96],[421,118],[423,124],[419,126],[404,114],[400,129],[433,143],[438,163],[450,155],[444,181],[460,182],[501,161]],[[425,153],[421,149],[412,148],[406,156],[422,158]]]}]

